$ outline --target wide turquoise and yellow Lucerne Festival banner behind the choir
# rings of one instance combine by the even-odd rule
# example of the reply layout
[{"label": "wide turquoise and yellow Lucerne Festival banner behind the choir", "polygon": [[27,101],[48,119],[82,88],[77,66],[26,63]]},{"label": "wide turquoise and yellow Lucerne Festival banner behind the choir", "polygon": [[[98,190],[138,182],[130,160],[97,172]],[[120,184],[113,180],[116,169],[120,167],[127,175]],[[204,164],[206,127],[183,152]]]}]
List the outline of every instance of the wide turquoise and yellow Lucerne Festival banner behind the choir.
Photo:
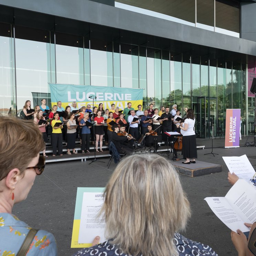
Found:
[{"label": "wide turquoise and yellow Lucerne Festival banner behind the choir", "polygon": [[98,107],[99,103],[103,103],[104,109],[111,109],[113,103],[119,109],[126,108],[128,102],[135,109],[139,104],[142,105],[143,89],[52,83],[49,86],[52,105],[61,101],[64,108],[71,106],[74,101],[77,102],[78,109],[87,104],[93,106],[93,101],[89,98],[92,95],[95,97],[94,106]]}]

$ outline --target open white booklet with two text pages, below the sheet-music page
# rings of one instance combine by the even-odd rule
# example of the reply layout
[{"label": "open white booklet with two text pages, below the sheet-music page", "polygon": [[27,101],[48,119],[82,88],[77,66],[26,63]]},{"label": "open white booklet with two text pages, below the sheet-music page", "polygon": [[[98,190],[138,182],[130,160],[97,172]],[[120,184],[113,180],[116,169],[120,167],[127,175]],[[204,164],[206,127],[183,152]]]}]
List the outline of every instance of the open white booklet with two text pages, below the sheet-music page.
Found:
[{"label": "open white booklet with two text pages, below the sheet-music page", "polygon": [[256,221],[256,190],[245,180],[239,179],[225,197],[204,199],[214,214],[232,231],[248,232],[244,223]]}]

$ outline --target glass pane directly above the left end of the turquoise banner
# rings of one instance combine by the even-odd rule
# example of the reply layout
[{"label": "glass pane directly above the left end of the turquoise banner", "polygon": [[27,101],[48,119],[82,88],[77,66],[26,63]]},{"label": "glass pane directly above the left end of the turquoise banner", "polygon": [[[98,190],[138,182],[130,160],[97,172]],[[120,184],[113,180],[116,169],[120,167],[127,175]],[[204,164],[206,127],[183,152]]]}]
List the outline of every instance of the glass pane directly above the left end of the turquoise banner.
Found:
[{"label": "glass pane directly above the left end of the turquoise banner", "polygon": [[84,84],[83,37],[55,33],[57,83]]}]

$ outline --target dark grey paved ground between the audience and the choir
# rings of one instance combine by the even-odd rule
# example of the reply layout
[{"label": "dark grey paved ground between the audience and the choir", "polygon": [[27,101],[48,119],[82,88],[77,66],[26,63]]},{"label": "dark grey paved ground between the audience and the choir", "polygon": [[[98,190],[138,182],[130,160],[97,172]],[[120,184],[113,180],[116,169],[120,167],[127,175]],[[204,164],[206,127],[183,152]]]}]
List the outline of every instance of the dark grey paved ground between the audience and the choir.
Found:
[{"label": "dark grey paved ground between the audience and the choir", "polygon": [[[231,185],[227,181],[227,167],[222,156],[241,156],[246,154],[253,167],[256,167],[256,148],[244,147],[246,137],[240,140],[240,148],[224,149],[224,139],[197,139],[198,160],[223,165],[220,173],[191,178],[180,175],[184,191],[188,194],[192,217],[185,232],[188,238],[210,245],[220,256],[237,255],[231,242],[230,230],[213,214],[203,200],[207,196],[225,196]],[[250,137],[249,141],[252,141]],[[163,156],[166,155],[163,153]],[[73,228],[77,187],[104,187],[116,164],[106,169],[108,158],[104,161],[49,163],[41,176],[36,177],[28,198],[14,206],[13,214],[34,228],[53,233],[58,246],[58,255],[72,255],[78,249],[70,248]]]}]

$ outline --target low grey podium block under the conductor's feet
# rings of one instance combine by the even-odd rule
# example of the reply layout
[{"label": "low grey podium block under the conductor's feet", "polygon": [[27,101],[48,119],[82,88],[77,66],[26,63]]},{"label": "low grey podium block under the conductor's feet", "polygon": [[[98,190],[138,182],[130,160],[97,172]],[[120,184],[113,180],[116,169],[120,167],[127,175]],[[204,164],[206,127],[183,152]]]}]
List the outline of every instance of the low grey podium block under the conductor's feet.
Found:
[{"label": "low grey podium block under the conductor's feet", "polygon": [[184,164],[185,160],[172,161],[178,173],[189,177],[199,177],[216,172],[222,172],[222,165],[214,163],[206,163],[196,160],[195,163]]}]

